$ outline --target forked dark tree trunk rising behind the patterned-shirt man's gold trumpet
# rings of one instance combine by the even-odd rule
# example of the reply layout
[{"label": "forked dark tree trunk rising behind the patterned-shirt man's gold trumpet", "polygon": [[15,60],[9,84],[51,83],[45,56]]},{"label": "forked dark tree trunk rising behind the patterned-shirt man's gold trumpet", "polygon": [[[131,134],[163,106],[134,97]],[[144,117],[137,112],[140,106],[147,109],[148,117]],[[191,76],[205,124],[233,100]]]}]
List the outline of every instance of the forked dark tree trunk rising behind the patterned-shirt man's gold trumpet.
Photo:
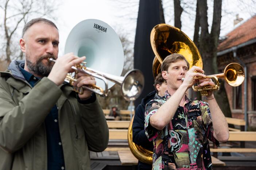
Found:
[{"label": "forked dark tree trunk rising behind the patterned-shirt man's gold trumpet", "polygon": [[[217,74],[217,46],[218,38],[220,36],[220,23],[221,23],[221,0],[214,0],[213,7],[213,23],[211,33],[208,31],[208,18],[207,18],[207,0],[198,0],[199,23],[201,27],[201,35],[199,39],[199,51],[203,58],[203,70],[206,75]],[[222,80],[220,80],[222,82]],[[214,92],[214,96],[220,106],[220,109],[226,117],[232,117],[228,97],[223,85],[218,92]]]}]

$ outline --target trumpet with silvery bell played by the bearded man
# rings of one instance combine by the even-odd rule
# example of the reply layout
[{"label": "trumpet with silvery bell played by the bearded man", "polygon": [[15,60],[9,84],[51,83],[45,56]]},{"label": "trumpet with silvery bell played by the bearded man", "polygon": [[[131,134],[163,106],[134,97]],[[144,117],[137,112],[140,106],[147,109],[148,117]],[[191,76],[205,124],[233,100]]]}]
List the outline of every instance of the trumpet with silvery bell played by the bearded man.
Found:
[{"label": "trumpet with silvery bell played by the bearded man", "polygon": [[[53,58],[47,58],[49,62],[56,62]],[[78,88],[77,86],[73,86],[73,90],[77,93],[82,94],[84,89],[88,89],[94,93],[100,94],[101,96],[108,96],[108,81],[115,82],[121,86],[121,94],[127,101],[134,101],[137,97],[139,97],[140,93],[143,90],[144,86],[144,76],[143,73],[138,69],[132,69],[125,74],[125,76],[115,76],[112,74],[104,73],[97,71],[92,68],[88,68],[85,66],[86,62],[81,62],[71,68],[75,70],[74,77],[71,74],[67,74],[65,78],[65,82],[69,83],[73,86],[73,83],[77,81],[77,74],[79,72],[88,74],[89,76],[93,76],[104,81],[105,90],[96,85],[86,85]]]}]

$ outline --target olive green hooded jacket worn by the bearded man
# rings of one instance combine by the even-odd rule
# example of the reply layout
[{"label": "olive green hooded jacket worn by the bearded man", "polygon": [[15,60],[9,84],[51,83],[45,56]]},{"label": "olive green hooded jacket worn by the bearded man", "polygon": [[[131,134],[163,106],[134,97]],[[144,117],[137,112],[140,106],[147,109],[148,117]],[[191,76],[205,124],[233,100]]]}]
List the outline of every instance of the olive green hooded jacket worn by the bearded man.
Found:
[{"label": "olive green hooded jacket worn by the bearded man", "polygon": [[47,170],[44,120],[57,104],[65,169],[90,169],[89,150],[108,145],[108,125],[96,99],[80,104],[72,87],[43,77],[32,88],[13,61],[0,72],[0,170]]}]

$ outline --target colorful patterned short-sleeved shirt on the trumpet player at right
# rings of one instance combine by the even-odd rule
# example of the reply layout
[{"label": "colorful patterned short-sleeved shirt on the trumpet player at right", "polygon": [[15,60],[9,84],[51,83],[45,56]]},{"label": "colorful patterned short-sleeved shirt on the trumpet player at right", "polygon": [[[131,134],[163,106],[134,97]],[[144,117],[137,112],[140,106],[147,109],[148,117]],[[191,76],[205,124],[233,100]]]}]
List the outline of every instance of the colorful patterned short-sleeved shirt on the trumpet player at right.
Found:
[{"label": "colorful patterned short-sleeved shirt on the trumpet player at right", "polygon": [[213,125],[209,105],[203,101],[191,101],[186,96],[184,106],[179,106],[171,122],[163,130],[149,123],[150,116],[170,98],[168,91],[161,99],[148,102],[145,110],[145,130],[149,141],[153,140],[154,170],[212,170],[209,141],[219,146],[213,137]]}]

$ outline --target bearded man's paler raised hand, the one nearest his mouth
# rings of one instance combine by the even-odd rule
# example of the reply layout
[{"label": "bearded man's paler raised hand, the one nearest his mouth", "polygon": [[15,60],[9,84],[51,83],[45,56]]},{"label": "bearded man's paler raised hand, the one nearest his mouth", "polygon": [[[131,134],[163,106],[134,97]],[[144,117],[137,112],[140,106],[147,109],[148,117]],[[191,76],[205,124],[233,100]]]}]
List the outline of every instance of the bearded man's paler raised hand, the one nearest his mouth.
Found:
[{"label": "bearded man's paler raised hand, the one nearest his mouth", "polygon": [[57,58],[48,78],[56,85],[61,85],[65,80],[67,73],[72,72],[71,66],[80,64],[86,57],[75,56],[74,53],[67,53]]}]

